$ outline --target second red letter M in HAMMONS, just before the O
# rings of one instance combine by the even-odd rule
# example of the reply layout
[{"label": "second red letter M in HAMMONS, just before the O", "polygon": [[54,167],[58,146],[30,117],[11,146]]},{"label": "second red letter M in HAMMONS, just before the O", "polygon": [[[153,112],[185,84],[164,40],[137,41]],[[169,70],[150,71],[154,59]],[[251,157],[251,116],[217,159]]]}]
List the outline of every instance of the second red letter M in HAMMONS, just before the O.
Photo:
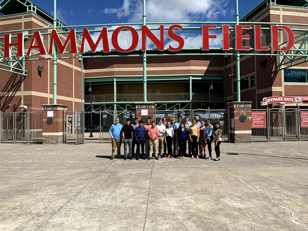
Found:
[{"label": "second red letter M in HAMMONS, just before the O", "polygon": [[82,33],[82,42],[81,42],[81,48],[80,48],[80,53],[84,53],[84,43],[85,40],[87,39],[87,42],[90,46],[90,49],[92,51],[92,53],[95,53],[96,48],[100,42],[100,40],[102,39],[103,42],[103,51],[104,52],[110,52],[109,49],[109,43],[108,43],[108,34],[107,34],[107,27],[103,27],[102,31],[100,32],[96,43],[94,44],[92,37],[89,33],[89,30],[87,28],[83,28],[83,33]]}]

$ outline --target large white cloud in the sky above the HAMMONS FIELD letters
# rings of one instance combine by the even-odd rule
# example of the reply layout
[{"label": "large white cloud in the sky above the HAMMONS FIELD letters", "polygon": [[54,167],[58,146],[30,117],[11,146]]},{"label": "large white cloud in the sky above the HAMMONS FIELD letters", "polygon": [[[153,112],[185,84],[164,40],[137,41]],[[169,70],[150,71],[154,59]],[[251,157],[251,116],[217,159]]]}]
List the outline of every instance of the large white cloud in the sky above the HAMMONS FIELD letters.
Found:
[{"label": "large white cloud in the sky above the HAMMONS FIELD letters", "polygon": [[[220,16],[230,17],[229,0],[147,0],[147,22],[214,21]],[[128,17],[128,22],[142,22],[142,1],[124,0],[120,8],[105,8],[105,14]]]}]

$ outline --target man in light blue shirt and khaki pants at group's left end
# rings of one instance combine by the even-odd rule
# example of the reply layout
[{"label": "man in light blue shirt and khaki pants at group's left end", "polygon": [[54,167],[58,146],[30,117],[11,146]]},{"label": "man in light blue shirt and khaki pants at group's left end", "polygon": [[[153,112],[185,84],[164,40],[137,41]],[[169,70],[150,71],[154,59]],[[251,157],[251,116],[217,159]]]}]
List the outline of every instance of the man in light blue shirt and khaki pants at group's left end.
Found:
[{"label": "man in light blue shirt and khaki pants at group's left end", "polygon": [[111,137],[112,154],[110,160],[115,158],[115,148],[117,149],[118,159],[121,159],[121,144],[122,144],[122,128],[123,125],[119,123],[120,119],[115,118],[115,123],[111,125],[109,129],[109,135]]}]

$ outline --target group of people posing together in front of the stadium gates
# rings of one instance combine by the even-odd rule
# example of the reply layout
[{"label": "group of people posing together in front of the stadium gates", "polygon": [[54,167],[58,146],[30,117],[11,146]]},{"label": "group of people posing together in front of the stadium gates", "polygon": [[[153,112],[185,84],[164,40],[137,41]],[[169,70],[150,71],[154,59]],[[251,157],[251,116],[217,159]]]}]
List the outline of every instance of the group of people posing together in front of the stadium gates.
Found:
[{"label": "group of people posing together in front of the stadium gates", "polygon": [[[115,123],[109,129],[112,144],[110,160],[115,158],[116,149],[117,158],[121,159],[122,140],[124,140],[124,160],[132,160],[135,157],[136,160],[139,160],[139,157],[144,160],[151,160],[153,152],[156,160],[159,160],[159,157],[174,158],[176,155],[179,159],[185,159],[189,155],[192,159],[196,156],[197,159],[204,157],[206,160],[212,160],[213,141],[216,152],[216,159],[214,160],[220,160],[222,136],[220,123],[215,123],[214,127],[210,119],[199,121],[199,116],[195,116],[192,122],[189,121],[188,116],[185,116],[184,119],[185,122],[182,122],[182,117],[178,116],[177,122],[175,122],[175,118],[167,121],[163,117],[159,119],[159,123],[156,125],[151,117],[146,120],[145,124],[135,117],[132,124],[128,118],[123,126],[120,124],[120,119],[115,118]],[[186,153],[187,146],[188,154]],[[206,147],[208,147],[208,157],[206,157]]]}]

